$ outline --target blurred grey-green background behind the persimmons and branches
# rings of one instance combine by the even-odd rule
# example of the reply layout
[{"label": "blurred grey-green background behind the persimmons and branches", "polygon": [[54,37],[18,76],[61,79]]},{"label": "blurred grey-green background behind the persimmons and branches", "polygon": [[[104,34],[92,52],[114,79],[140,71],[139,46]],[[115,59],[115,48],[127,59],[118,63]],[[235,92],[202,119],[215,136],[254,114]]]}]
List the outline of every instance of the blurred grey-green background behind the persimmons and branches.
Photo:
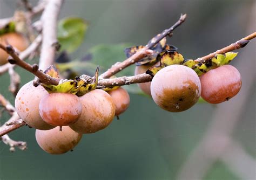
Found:
[{"label": "blurred grey-green background behind the persimmons and branches", "polygon": [[[12,16],[17,2],[0,0],[0,18]],[[168,43],[185,59],[195,59],[255,31],[255,5],[253,0],[66,0],[60,18],[89,22],[83,45],[70,55],[79,59],[99,44],[145,45],[187,13]],[[232,65],[241,73],[242,88],[220,105],[198,103],[170,113],[146,96],[130,94],[130,107],[119,121],[85,134],[73,152],[58,156],[39,148],[35,129],[10,133],[28,149],[10,153],[0,142],[0,179],[256,179],[255,49],[254,39],[238,50]],[[22,84],[33,78],[16,70]],[[9,75],[0,81],[0,93],[14,103]],[[4,113],[1,123],[8,118]]]}]

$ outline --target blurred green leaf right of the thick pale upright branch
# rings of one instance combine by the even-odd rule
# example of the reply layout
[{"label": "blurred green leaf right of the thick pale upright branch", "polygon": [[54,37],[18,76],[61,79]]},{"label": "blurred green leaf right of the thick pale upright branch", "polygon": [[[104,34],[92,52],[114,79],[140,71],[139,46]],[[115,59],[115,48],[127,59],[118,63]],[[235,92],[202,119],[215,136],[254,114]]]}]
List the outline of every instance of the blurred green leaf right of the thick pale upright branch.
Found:
[{"label": "blurred green leaf right of the thick pale upright branch", "polygon": [[83,43],[87,23],[81,18],[65,18],[58,23],[60,51],[74,52]]}]

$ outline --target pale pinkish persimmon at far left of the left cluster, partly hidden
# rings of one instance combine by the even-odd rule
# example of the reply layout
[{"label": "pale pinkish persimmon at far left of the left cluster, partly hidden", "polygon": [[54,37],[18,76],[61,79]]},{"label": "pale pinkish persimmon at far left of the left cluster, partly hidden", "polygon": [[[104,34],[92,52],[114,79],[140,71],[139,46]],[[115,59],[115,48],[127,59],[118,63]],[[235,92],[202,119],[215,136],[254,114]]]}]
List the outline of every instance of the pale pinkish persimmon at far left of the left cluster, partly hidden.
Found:
[{"label": "pale pinkish persimmon at far left of the left cluster, partly hidden", "polygon": [[35,87],[32,82],[28,82],[19,89],[15,98],[15,109],[19,117],[30,127],[41,130],[54,128],[44,122],[39,114],[39,102],[47,94],[48,92],[42,86]]}]

